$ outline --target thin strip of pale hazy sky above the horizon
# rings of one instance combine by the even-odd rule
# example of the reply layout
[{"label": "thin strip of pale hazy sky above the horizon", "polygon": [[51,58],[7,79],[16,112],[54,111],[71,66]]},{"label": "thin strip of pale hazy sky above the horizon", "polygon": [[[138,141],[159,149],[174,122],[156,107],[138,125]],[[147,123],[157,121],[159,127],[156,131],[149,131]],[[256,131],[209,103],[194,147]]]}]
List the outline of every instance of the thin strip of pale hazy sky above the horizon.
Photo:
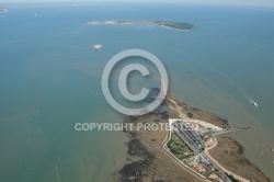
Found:
[{"label": "thin strip of pale hazy sky above the horizon", "polygon": [[0,0],[7,2],[167,2],[274,8],[274,0]]}]

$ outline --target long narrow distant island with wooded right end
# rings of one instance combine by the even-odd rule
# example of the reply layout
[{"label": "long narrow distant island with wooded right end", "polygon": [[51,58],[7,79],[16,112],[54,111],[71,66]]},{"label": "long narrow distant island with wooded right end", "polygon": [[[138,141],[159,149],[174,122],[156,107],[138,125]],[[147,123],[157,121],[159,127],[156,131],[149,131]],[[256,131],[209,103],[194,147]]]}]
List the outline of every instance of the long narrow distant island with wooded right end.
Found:
[{"label": "long narrow distant island with wooded right end", "polygon": [[124,25],[135,25],[135,24],[144,24],[144,25],[158,25],[162,27],[173,29],[176,31],[191,31],[194,29],[193,24],[182,23],[182,22],[172,22],[172,21],[91,21],[88,22],[90,25],[98,24],[124,24]]}]

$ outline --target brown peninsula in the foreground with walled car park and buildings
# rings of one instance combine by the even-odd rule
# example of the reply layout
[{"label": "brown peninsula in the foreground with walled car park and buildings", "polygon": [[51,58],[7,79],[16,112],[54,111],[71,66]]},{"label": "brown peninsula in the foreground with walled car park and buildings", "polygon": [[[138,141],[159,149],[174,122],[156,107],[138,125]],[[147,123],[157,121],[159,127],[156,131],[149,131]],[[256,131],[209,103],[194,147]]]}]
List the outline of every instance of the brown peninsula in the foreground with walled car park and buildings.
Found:
[{"label": "brown peninsula in the foreground with walled car park and buildings", "polygon": [[[124,129],[128,136],[126,162],[111,181],[270,182],[244,157],[238,141],[221,135],[254,128],[230,126],[224,116],[191,106],[170,92],[157,111],[126,116],[124,123],[134,125]],[[140,124],[168,124],[170,129],[137,129]]]}]

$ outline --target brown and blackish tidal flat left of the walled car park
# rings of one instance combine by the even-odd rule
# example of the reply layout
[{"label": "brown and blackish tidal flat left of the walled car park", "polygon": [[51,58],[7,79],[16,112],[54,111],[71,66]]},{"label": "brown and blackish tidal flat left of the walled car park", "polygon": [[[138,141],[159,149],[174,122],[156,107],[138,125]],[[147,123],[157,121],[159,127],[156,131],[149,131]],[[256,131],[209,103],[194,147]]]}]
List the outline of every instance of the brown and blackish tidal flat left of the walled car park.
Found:
[{"label": "brown and blackish tidal flat left of the walled car park", "polygon": [[[168,118],[161,113],[149,113],[138,117],[127,117],[124,122],[138,124],[161,122]],[[126,143],[126,162],[121,169],[116,169],[111,177],[118,182],[165,182],[190,181],[199,182],[201,179],[190,173],[162,149],[162,141],[167,137],[167,130],[124,130],[128,137]]]}]

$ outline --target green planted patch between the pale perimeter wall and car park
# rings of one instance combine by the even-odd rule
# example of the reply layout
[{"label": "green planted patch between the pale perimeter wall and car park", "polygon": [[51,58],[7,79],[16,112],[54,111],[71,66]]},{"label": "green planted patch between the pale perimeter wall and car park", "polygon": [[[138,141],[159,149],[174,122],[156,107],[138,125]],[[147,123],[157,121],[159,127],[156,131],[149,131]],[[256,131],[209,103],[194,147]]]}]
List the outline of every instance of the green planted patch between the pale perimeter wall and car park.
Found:
[{"label": "green planted patch between the pale perimeter wall and car park", "polygon": [[186,144],[175,134],[171,133],[171,138],[168,143],[170,151],[180,160],[190,158],[193,152]]}]

